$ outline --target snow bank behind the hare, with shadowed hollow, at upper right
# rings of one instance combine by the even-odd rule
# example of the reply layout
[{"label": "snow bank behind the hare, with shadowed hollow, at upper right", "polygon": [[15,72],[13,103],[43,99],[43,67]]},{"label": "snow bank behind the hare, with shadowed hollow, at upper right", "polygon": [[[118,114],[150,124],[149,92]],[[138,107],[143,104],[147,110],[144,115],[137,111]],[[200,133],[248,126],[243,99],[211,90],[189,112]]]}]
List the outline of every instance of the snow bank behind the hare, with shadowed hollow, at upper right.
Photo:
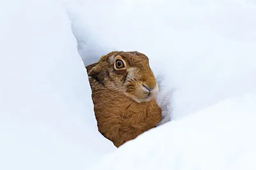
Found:
[{"label": "snow bank behind the hare, with shadowed hollow, at upper right", "polygon": [[111,50],[148,55],[160,99],[175,90],[173,120],[256,92],[255,0],[61,1],[86,65]]}]

